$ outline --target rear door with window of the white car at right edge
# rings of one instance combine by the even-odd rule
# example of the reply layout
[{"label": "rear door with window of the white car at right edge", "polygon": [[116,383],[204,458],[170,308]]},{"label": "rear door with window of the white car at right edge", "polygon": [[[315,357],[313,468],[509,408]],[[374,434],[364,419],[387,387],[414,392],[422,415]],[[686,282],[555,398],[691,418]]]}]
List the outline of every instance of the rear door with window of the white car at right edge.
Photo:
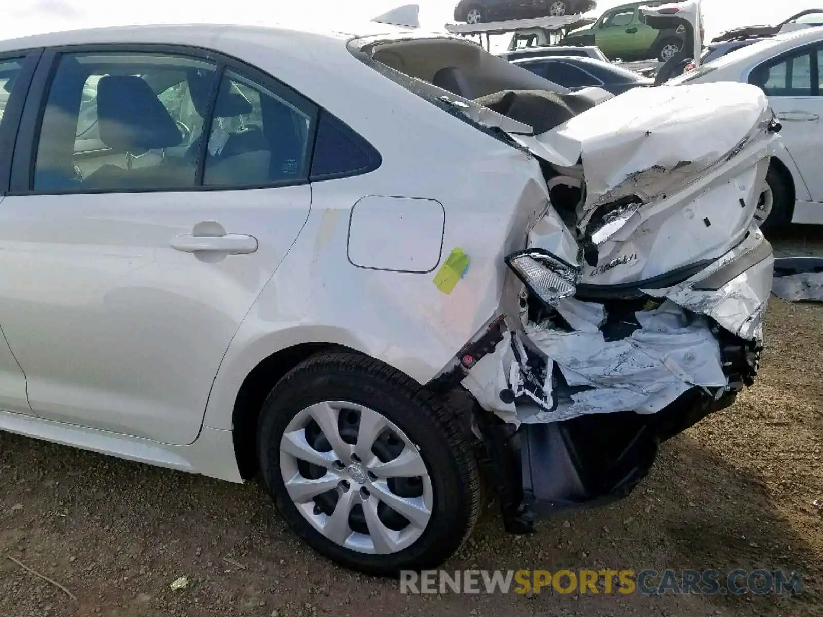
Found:
[{"label": "rear door with window of the white car at right edge", "polygon": [[761,64],[749,78],[769,96],[769,103],[783,124],[783,144],[815,202],[823,202],[821,63],[823,46],[807,46]]}]

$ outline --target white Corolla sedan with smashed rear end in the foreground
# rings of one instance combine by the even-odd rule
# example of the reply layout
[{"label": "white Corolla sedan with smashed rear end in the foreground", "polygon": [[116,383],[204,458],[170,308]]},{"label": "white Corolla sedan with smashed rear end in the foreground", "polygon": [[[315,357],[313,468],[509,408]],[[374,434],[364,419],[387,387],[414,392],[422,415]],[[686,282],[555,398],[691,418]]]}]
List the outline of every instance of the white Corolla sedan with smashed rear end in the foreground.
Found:
[{"label": "white Corolla sedan with smashed rear end in the foreground", "polygon": [[[230,481],[350,568],[616,499],[756,376],[779,123],[448,35],[0,44],[0,429]],[[489,491],[481,491],[486,486]]]}]

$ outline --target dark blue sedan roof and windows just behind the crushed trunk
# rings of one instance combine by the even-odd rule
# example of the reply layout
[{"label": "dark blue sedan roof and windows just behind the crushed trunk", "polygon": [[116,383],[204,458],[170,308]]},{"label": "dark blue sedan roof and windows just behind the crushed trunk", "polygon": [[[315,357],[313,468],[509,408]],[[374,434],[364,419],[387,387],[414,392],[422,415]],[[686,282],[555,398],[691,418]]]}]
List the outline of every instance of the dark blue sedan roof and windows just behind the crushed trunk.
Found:
[{"label": "dark blue sedan roof and windows just behind the crushed trunk", "polygon": [[593,86],[619,95],[626,90],[652,86],[654,83],[648,77],[609,62],[579,56],[524,58],[512,63],[569,89]]}]

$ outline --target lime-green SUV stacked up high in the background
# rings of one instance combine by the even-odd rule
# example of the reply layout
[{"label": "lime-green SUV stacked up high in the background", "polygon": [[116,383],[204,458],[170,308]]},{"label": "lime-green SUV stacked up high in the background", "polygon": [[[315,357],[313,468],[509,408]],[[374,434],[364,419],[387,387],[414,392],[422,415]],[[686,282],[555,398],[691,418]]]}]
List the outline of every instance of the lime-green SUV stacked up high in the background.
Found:
[{"label": "lime-green SUV stacked up high in the background", "polygon": [[[658,58],[665,62],[680,51],[686,36],[685,29],[681,26],[677,30],[655,30],[646,26],[638,13],[639,7],[657,7],[661,4],[663,2],[631,2],[612,8],[588,28],[570,32],[561,44],[597,45],[611,60]],[[703,39],[702,23],[700,39]]]}]

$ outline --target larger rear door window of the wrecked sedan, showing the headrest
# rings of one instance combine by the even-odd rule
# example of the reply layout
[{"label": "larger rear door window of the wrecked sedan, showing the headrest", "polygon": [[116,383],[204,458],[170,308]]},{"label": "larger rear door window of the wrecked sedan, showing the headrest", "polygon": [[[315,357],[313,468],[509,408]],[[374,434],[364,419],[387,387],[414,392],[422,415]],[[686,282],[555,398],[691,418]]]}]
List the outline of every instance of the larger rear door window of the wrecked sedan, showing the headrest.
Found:
[{"label": "larger rear door window of the wrecked sedan, showing the headrest", "polygon": [[40,125],[35,190],[194,186],[215,70],[176,54],[63,55]]}]

